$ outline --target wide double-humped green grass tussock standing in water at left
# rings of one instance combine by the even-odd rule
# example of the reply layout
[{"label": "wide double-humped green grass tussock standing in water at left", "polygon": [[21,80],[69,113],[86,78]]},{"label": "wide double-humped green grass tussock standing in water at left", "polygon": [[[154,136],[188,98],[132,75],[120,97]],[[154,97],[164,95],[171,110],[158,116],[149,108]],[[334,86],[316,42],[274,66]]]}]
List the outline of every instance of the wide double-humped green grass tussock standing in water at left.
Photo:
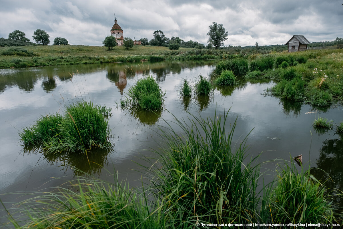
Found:
[{"label": "wide double-humped green grass tussock standing in water at left", "polygon": [[46,152],[111,147],[107,119],[111,115],[110,108],[80,101],[64,109],[63,116],[58,113],[42,116],[35,125],[24,128],[19,133],[24,145],[39,145]]}]

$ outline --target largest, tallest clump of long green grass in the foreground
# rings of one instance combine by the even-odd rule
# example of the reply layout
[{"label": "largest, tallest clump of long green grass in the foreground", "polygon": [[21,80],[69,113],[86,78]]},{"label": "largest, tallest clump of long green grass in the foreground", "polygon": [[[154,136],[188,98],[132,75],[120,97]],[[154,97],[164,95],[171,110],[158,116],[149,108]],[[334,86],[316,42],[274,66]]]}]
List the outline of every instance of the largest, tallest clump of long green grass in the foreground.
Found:
[{"label": "largest, tallest clump of long green grass in the foreground", "polygon": [[162,131],[167,147],[157,152],[164,168],[158,172],[159,192],[173,213],[171,225],[257,221],[259,169],[253,159],[243,163],[246,139],[234,147],[236,121],[226,133],[227,114],[207,119],[190,114],[190,125],[176,119],[182,135]]}]

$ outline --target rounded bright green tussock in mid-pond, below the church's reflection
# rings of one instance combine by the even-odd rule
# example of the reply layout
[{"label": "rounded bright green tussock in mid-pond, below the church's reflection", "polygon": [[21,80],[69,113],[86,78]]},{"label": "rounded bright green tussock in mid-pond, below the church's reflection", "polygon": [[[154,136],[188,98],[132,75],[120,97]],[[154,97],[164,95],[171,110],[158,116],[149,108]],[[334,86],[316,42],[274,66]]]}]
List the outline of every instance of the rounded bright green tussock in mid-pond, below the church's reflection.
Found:
[{"label": "rounded bright green tussock in mid-pond, below the church's reflection", "polygon": [[164,103],[165,93],[162,92],[156,80],[152,77],[139,79],[129,89],[128,97],[120,101],[123,108],[140,107],[144,110],[160,110]]}]

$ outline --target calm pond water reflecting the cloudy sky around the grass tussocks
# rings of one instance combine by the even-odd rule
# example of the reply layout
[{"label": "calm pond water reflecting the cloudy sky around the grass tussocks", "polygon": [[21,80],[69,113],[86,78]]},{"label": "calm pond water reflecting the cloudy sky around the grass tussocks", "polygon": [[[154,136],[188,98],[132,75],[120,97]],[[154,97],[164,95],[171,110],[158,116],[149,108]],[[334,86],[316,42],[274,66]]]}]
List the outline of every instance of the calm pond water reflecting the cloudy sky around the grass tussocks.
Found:
[{"label": "calm pond water reflecting the cloudy sky around the grass tussocks", "polygon": [[[173,126],[170,122],[173,115],[187,118],[190,116],[187,112],[213,117],[216,110],[217,115],[223,115],[230,107],[228,123],[237,118],[234,142],[243,140],[253,129],[247,140],[249,154],[256,156],[263,152],[261,161],[289,160],[303,154],[304,163],[310,162],[311,167],[328,172],[332,178],[329,186],[343,190],[342,139],[333,131],[318,134],[311,126],[319,116],[337,124],[342,122],[342,105],[319,111],[309,105],[261,95],[274,84],[272,81],[241,81],[237,87],[216,88],[210,97],[179,99],[178,88],[183,79],[193,81],[199,74],[210,77],[214,66],[213,62],[204,61],[0,69],[1,200],[18,202],[24,197],[4,194],[61,185],[72,179],[68,176],[78,174],[70,165],[102,179],[110,179],[109,174],[117,171],[131,185],[139,185],[139,179],[145,174],[139,172],[140,166],[135,162],[144,163],[141,158],[153,154],[149,149],[157,145],[156,125]],[[152,115],[116,108],[116,101],[125,97],[135,81],[147,75],[152,75],[166,91],[166,111]],[[99,166],[90,168],[87,159],[79,155],[48,158],[20,146],[20,129],[34,124],[40,115],[62,113],[63,104],[80,98],[112,107],[109,124],[115,145],[113,151],[90,156]],[[175,128],[176,132],[180,131]],[[264,167],[274,169],[276,163]],[[318,170],[315,175],[319,178],[323,173]],[[52,179],[66,176],[64,180]],[[0,217],[3,215],[4,211],[0,211]]]}]

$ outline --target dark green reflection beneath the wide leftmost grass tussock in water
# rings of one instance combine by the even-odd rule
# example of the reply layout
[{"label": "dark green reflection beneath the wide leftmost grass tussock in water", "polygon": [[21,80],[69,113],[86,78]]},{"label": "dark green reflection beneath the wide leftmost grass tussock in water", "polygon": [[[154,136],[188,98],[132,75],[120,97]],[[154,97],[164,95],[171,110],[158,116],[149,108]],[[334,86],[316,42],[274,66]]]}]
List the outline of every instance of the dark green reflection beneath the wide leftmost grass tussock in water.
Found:
[{"label": "dark green reflection beneath the wide leftmost grass tussock in water", "polygon": [[23,154],[43,153],[43,157],[51,165],[58,164],[65,172],[68,168],[73,169],[74,175],[82,176],[85,174],[100,175],[101,169],[107,165],[107,156],[112,149],[94,149],[87,153],[47,153],[39,146],[24,146]]}]

